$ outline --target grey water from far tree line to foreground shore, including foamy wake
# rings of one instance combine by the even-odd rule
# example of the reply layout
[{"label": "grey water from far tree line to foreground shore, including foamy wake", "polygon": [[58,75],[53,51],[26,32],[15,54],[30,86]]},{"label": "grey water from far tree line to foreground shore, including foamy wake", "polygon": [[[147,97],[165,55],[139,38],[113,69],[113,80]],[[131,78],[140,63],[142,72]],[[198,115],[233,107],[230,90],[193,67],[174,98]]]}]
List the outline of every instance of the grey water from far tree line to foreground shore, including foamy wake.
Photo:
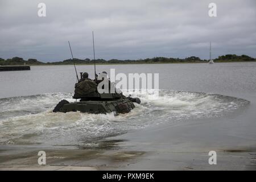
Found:
[{"label": "grey water from far tree line to foreground shore, including foamy wake", "polygon": [[[160,97],[131,93],[142,104],[118,116],[52,113],[60,100],[72,101],[76,82],[72,65],[0,72],[0,144],[88,146],[97,139],[160,123],[198,118],[222,122],[218,118],[226,115],[241,123],[229,130],[230,135],[255,138],[256,63],[97,65],[97,72],[111,68],[125,74],[159,73]],[[77,65],[77,71],[91,76],[93,66]],[[241,110],[249,113],[240,118]],[[240,132],[232,133],[241,126]]]}]

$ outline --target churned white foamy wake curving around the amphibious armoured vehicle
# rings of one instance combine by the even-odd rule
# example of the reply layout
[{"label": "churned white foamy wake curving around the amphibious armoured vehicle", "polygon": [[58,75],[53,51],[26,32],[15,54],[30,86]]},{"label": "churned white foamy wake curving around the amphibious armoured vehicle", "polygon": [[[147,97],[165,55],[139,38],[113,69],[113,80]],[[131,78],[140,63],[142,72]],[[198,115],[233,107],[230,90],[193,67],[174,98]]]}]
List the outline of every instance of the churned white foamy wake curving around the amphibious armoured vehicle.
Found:
[{"label": "churned white foamy wake curving around the amphibious armoured vehicle", "polygon": [[141,98],[130,113],[52,113],[71,93],[0,99],[0,144],[84,146],[93,140],[129,130],[185,119],[220,117],[249,104],[241,98],[218,94],[160,90],[155,94],[130,93]]}]

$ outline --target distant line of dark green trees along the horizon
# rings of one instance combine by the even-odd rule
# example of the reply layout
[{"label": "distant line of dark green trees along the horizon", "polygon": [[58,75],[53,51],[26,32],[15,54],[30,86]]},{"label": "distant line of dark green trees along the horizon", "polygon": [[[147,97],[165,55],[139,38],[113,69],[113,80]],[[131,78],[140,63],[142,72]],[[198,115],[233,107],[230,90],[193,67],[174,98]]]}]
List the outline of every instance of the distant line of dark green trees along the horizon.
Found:
[{"label": "distant line of dark green trees along the horizon", "polygon": [[[66,64],[73,64],[75,61],[76,64],[93,64],[94,60],[91,59],[67,59],[64,61],[58,62],[47,62],[43,63],[36,59],[28,59],[23,60],[22,57],[13,57],[11,59],[2,59],[0,58],[0,65],[66,65]],[[118,59],[111,59],[111,60],[104,60],[104,59],[96,59],[97,64],[143,64],[143,63],[207,63],[208,60],[201,60],[200,57],[191,56],[186,57],[185,59],[180,58],[172,58],[172,57],[154,57],[154,58],[147,58],[147,59],[139,59],[139,60],[118,60]],[[236,61],[256,61],[255,58],[247,56],[247,55],[224,55],[218,56],[217,59],[214,59],[214,62],[236,62]]]}]

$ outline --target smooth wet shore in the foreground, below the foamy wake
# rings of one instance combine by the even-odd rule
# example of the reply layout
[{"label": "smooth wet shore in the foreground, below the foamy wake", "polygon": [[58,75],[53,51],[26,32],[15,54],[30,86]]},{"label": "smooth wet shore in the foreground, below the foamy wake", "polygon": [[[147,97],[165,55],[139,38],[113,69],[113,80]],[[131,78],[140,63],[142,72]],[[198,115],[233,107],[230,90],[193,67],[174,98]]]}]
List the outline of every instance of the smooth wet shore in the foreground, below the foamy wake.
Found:
[{"label": "smooth wet shore in the foreground, below the foamy wake", "polygon": [[[212,121],[217,123],[212,123]],[[255,141],[230,140],[211,129],[225,126],[225,118],[196,119],[151,126],[98,140],[92,148],[0,145],[1,170],[252,170],[256,169]],[[235,126],[235,125],[233,125]],[[237,126],[238,127],[238,126]],[[225,127],[225,129],[228,129]],[[204,137],[198,136],[203,131]],[[159,135],[159,132],[161,133]],[[220,140],[222,138],[222,140]],[[216,140],[218,141],[216,143]],[[245,143],[246,142],[246,143]],[[46,165],[38,164],[39,151],[46,152]],[[217,152],[217,165],[208,163],[209,151]]]}]

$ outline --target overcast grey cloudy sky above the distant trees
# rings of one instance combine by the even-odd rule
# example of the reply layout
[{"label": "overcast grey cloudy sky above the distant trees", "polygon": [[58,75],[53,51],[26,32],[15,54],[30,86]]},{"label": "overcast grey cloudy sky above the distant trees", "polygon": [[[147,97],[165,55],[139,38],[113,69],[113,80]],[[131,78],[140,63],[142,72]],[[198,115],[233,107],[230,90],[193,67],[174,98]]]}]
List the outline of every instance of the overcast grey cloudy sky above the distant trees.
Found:
[{"label": "overcast grey cloudy sky above the distant trees", "polygon": [[[38,16],[38,3],[46,17]],[[217,5],[217,17],[208,5]],[[236,53],[256,57],[255,0],[0,0],[0,57],[41,61],[74,57],[144,59],[146,57],[213,57]]]}]

